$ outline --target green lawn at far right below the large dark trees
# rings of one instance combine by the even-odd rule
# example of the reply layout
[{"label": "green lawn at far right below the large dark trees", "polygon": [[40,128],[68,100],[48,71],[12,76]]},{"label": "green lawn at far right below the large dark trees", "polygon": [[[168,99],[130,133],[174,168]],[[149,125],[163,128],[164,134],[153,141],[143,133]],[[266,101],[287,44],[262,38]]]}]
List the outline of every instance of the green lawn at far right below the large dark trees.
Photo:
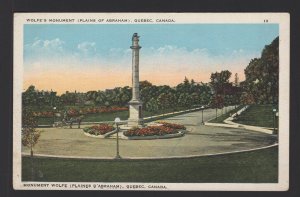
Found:
[{"label": "green lawn at far right below the large dark trees", "polygon": [[[272,105],[251,105],[234,122],[246,125],[273,127],[274,113]],[[276,120],[276,125],[278,125]]]}]

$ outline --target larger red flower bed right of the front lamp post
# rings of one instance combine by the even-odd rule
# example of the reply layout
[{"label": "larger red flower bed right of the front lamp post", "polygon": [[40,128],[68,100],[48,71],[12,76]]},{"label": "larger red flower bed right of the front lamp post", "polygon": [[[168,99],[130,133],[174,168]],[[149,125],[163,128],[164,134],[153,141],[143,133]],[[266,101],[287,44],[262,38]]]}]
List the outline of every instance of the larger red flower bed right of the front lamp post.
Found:
[{"label": "larger red flower bed right of the front lamp post", "polygon": [[133,128],[125,131],[125,136],[163,136],[168,134],[178,133],[179,130],[184,130],[183,125],[172,124],[172,123],[160,123],[160,126],[148,126],[144,128]]}]

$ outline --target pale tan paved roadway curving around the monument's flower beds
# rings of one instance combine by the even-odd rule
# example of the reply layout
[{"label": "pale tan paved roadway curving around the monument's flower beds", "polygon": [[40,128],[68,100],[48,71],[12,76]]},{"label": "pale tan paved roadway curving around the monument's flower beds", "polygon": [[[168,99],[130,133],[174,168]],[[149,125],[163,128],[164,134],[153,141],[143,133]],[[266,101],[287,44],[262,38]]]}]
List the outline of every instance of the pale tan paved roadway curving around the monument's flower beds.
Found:
[{"label": "pale tan paved roadway curving around the monument's flower beds", "polygon": [[[215,116],[215,110],[204,111],[204,121]],[[186,157],[225,152],[243,151],[270,146],[277,137],[244,129],[209,127],[201,124],[202,112],[191,112],[167,119],[168,122],[184,124],[185,136],[157,140],[120,140],[120,155],[123,158]],[[28,148],[22,147],[25,154]],[[43,129],[35,155],[114,158],[116,139],[87,137],[82,129]]]}]

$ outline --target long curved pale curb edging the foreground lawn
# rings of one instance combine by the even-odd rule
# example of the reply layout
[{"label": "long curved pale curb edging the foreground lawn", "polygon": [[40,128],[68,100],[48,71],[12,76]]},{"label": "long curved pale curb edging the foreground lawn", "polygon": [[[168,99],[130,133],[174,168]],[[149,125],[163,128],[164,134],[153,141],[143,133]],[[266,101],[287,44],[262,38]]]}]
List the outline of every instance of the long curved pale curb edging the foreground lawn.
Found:
[{"label": "long curved pale curb edging the foreground lawn", "polygon": [[[238,150],[238,151],[230,151],[224,153],[215,153],[215,154],[204,154],[204,155],[186,155],[186,156],[167,156],[167,157],[122,157],[122,159],[115,159],[115,157],[80,157],[80,156],[64,156],[64,155],[47,155],[47,154],[34,154],[34,157],[48,157],[48,158],[62,158],[62,159],[95,159],[95,160],[162,160],[162,159],[188,159],[188,158],[199,158],[199,157],[211,157],[218,155],[230,155],[235,153],[244,153],[244,152],[252,152],[257,150],[268,149],[272,147],[278,146],[278,143],[259,147],[252,148],[248,150]],[[30,153],[22,153],[22,156],[30,157]]]}]

